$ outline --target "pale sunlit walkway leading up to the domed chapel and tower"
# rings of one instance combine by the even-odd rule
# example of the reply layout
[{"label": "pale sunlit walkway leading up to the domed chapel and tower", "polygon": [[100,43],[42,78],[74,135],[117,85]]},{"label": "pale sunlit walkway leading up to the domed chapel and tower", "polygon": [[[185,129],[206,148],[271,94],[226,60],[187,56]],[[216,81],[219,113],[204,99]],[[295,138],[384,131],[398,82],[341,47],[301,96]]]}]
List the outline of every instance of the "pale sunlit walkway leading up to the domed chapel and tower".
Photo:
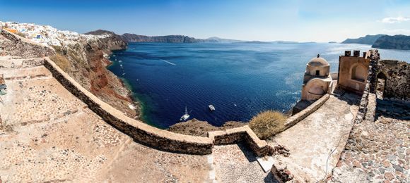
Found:
[{"label": "pale sunlit walkway leading up to the domed chapel and tower", "polygon": [[291,154],[275,156],[275,164],[284,163],[301,182],[317,182],[329,175],[346,144],[353,114],[358,110],[352,105],[358,99],[348,93],[339,98],[330,96],[315,113],[276,135],[269,144],[283,145]]}]

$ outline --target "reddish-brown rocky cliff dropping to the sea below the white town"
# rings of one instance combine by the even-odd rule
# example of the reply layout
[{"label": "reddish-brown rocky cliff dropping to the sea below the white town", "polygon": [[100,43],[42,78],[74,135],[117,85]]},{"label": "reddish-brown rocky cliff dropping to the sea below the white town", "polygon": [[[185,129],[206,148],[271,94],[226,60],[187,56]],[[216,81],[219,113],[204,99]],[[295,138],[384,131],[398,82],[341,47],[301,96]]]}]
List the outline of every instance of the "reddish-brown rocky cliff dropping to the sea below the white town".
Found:
[{"label": "reddish-brown rocky cliff dropping to the sea below the white town", "polygon": [[102,101],[135,118],[139,115],[138,103],[131,99],[122,81],[106,68],[111,63],[111,50],[126,48],[127,43],[114,33],[102,38],[78,37],[75,43],[54,46],[57,56],[52,60]]}]

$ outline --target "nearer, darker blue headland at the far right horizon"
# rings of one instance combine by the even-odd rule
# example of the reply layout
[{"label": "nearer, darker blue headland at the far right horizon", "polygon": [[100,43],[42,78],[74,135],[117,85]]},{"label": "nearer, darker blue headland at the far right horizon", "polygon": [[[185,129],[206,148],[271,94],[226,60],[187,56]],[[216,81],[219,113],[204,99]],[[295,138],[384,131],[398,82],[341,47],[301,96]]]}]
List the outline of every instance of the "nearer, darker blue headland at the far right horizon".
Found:
[{"label": "nearer, darker blue headland at the far right horizon", "polygon": [[372,45],[377,49],[404,49],[410,50],[410,36],[395,35],[395,36],[382,36],[375,41]]}]

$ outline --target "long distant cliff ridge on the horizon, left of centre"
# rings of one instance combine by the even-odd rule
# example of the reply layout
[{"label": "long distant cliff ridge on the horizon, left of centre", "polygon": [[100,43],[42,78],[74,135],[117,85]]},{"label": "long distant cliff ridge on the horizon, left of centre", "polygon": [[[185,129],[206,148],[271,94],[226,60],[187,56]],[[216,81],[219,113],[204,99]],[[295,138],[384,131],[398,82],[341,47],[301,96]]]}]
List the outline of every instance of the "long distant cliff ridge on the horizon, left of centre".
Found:
[{"label": "long distant cliff ridge on the horizon, left of centre", "polygon": [[214,42],[207,39],[195,39],[182,35],[168,36],[144,36],[137,34],[122,34],[122,38],[127,42],[160,42],[160,43],[197,43],[197,42]]}]

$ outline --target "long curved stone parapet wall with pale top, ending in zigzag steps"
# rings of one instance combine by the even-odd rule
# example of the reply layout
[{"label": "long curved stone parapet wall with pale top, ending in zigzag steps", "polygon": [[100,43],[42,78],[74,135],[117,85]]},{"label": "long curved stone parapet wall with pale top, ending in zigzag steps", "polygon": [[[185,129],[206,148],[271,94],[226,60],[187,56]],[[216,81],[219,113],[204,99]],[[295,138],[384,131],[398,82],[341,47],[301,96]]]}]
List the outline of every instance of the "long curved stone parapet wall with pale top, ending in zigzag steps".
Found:
[{"label": "long curved stone parapet wall with pale top, ending in zigzag steps", "polygon": [[211,154],[214,145],[235,144],[240,141],[245,141],[258,156],[264,156],[279,150],[279,148],[271,147],[266,141],[259,139],[247,125],[225,131],[209,132],[208,137],[196,137],[160,130],[139,120],[129,118],[121,111],[101,101],[49,58],[45,58],[44,65],[52,72],[56,80],[71,94],[86,103],[90,110],[100,115],[105,122],[117,128],[117,130],[124,132],[141,144],[163,151],[201,155]]}]

